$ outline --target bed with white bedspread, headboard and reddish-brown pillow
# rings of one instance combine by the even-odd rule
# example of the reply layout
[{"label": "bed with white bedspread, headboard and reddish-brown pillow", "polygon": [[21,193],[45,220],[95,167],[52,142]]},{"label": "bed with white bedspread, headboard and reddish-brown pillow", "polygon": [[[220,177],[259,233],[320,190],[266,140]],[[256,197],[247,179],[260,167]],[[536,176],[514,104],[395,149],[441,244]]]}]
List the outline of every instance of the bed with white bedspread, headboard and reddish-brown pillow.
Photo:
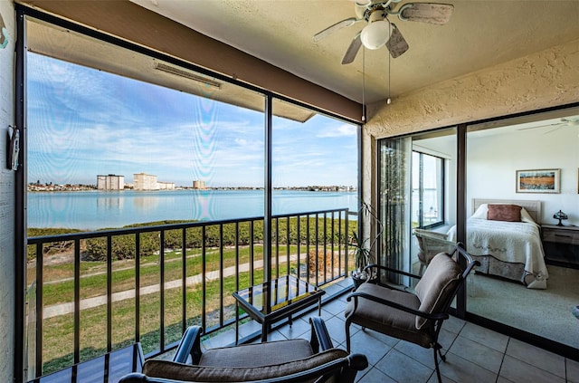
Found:
[{"label": "bed with white bedspread, headboard and reddish-brown pillow", "polygon": [[[517,208],[509,207],[513,205],[522,207],[520,222],[512,222],[517,221],[514,213]],[[472,211],[467,220],[466,246],[481,264],[477,273],[521,282],[529,289],[546,289],[548,273],[537,224],[541,202],[475,198]],[[456,226],[448,236],[456,240]]]}]

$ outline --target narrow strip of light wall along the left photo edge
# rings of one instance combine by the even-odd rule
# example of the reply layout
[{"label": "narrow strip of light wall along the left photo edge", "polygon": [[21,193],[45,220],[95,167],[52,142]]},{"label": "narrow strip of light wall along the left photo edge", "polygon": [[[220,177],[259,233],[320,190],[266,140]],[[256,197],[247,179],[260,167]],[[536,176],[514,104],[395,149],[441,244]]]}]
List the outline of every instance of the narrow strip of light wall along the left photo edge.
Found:
[{"label": "narrow strip of light wall along the left photo edge", "polygon": [[14,376],[14,172],[5,166],[5,143],[8,125],[14,125],[12,1],[0,0],[0,15],[8,32],[8,44],[0,47],[0,381],[10,382]]}]

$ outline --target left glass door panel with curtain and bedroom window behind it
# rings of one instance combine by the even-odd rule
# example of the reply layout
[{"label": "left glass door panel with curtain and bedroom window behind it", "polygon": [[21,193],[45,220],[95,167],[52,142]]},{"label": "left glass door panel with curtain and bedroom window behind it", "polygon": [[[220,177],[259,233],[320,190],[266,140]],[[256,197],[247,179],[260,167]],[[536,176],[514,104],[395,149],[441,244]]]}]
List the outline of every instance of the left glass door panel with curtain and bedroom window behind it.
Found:
[{"label": "left glass door panel with curtain and bedroom window behind it", "polygon": [[378,145],[382,263],[418,273],[413,229],[446,234],[456,225],[456,129],[382,139]]}]

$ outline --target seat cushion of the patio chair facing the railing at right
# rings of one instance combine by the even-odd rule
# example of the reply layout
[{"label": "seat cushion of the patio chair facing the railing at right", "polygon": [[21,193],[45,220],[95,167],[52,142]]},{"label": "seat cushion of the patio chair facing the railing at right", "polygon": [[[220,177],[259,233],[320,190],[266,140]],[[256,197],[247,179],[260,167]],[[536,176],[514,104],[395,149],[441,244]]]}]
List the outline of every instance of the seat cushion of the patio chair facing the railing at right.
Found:
[{"label": "seat cushion of the patio chair facing the railing at right", "polygon": [[[420,301],[412,292],[403,292],[379,286],[374,283],[362,283],[356,292],[382,298],[386,301],[396,302],[404,307],[418,310]],[[359,297],[356,306],[354,298],[346,306],[347,321],[352,321],[365,328],[376,330],[394,338],[408,340],[422,347],[432,347],[432,332],[426,329],[416,329],[416,315],[394,309],[394,307],[373,302]]]}]

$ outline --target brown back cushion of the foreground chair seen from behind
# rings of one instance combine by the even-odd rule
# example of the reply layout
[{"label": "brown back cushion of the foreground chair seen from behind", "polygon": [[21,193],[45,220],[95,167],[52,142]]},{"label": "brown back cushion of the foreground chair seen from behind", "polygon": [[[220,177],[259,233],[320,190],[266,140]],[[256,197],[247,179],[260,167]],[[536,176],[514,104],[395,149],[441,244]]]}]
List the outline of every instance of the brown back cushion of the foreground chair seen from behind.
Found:
[{"label": "brown back cushion of the foreground chair seen from behind", "polygon": [[[281,343],[281,342],[277,342]],[[166,360],[149,359],[143,366],[143,373],[148,377],[170,378],[196,382],[233,382],[280,378],[289,374],[312,369],[328,361],[344,358],[344,349],[327,349],[305,359],[294,360],[271,366],[256,367],[208,367],[191,366]],[[265,357],[265,355],[263,355]],[[251,362],[251,360],[246,360]]]}]

